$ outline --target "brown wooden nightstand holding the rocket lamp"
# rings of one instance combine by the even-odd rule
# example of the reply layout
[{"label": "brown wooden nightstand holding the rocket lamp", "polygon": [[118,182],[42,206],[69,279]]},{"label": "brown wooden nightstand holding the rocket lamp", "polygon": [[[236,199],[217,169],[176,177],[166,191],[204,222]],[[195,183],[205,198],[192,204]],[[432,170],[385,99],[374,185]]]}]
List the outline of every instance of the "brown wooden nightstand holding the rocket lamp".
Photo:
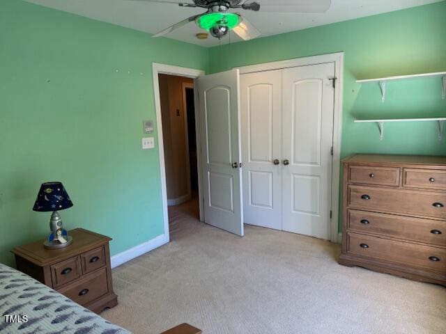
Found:
[{"label": "brown wooden nightstand holding the rocket lamp", "polygon": [[118,304],[113,292],[109,241],[104,235],[77,228],[72,244],[46,249],[43,240],[11,250],[17,269],[99,313]]}]

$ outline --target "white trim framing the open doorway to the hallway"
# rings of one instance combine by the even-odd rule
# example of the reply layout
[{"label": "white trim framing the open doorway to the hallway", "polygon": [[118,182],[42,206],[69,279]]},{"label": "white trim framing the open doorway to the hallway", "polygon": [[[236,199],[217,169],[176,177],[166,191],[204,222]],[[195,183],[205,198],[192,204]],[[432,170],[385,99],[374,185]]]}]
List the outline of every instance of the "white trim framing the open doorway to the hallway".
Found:
[{"label": "white trim framing the open doorway to the hallway", "polygon": [[[169,241],[169,213],[167,211],[167,184],[166,184],[166,168],[164,166],[164,142],[162,139],[162,116],[161,116],[161,99],[160,99],[160,81],[158,79],[158,74],[171,74],[178,75],[180,77],[187,77],[192,79],[197,79],[204,75],[203,70],[196,70],[194,68],[179,67],[173,65],[165,65],[160,63],[152,63],[153,72],[153,94],[155,100],[155,111],[156,111],[156,128],[158,132],[158,152],[160,157],[160,178],[161,178],[161,197],[162,197],[162,216],[164,220],[164,236]],[[195,92],[197,95],[197,90]],[[195,97],[197,101],[197,97]],[[197,120],[199,119],[197,103],[195,104],[195,123],[197,125]],[[199,129],[197,128],[197,138],[199,138]],[[198,143],[197,143],[198,144]],[[197,146],[199,148],[199,146]],[[200,152],[197,150],[197,160],[200,159]],[[200,175],[200,165],[198,164],[198,173]],[[199,179],[199,204],[200,204],[200,220],[202,217],[202,200],[201,200],[201,177]]]}]

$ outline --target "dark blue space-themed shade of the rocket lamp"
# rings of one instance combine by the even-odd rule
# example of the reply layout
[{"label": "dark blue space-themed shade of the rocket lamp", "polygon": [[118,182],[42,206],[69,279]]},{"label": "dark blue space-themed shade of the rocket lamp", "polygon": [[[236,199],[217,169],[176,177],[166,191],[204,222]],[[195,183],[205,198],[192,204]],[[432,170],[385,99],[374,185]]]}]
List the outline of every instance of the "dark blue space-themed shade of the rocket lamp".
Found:
[{"label": "dark blue space-themed shade of the rocket lamp", "polygon": [[72,202],[62,182],[45,182],[40,186],[33,211],[49,212],[69,207],[72,207]]}]

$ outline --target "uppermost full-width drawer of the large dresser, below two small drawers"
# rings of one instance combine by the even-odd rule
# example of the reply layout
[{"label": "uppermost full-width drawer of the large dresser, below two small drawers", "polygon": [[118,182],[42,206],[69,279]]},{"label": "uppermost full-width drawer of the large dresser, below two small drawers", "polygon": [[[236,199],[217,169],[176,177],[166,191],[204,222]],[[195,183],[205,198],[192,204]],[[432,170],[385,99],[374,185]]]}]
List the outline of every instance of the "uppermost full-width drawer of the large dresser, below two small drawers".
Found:
[{"label": "uppermost full-width drawer of the large dresser, below two small drawers", "polygon": [[348,206],[378,212],[446,218],[446,193],[349,185]]}]

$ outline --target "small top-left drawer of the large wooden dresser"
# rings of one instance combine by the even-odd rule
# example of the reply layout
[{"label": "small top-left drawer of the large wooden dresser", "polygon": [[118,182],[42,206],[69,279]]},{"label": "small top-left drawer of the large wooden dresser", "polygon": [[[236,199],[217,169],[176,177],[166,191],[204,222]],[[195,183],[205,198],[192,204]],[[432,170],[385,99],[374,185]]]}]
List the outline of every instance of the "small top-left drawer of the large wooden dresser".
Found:
[{"label": "small top-left drawer of the large wooden dresser", "polygon": [[399,186],[399,168],[349,166],[348,181],[382,186]]}]

